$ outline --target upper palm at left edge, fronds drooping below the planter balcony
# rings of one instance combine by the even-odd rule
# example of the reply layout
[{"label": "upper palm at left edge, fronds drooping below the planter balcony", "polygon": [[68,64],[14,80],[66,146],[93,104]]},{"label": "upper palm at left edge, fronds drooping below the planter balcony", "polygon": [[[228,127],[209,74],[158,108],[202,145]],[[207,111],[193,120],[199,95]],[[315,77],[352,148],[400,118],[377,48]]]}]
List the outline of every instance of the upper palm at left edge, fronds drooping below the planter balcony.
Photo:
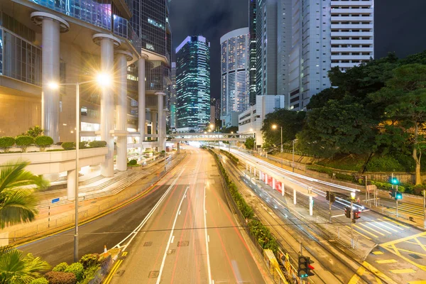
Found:
[{"label": "upper palm at left edge, fronds drooping below the planter balcony", "polygon": [[48,181],[25,170],[28,162],[0,165],[0,229],[33,221],[38,210],[35,188],[48,186]]}]

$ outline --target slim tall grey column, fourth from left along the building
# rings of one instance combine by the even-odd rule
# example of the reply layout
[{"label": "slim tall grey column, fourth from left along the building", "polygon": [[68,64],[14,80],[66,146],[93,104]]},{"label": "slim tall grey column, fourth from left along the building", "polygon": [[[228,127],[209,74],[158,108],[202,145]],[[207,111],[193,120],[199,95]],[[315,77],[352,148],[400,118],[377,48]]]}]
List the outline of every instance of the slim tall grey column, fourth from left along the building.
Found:
[{"label": "slim tall grey column, fourth from left along the building", "polygon": [[146,97],[145,97],[145,61],[148,55],[142,53],[138,60],[138,132],[141,134],[141,142],[145,141],[146,125]]}]

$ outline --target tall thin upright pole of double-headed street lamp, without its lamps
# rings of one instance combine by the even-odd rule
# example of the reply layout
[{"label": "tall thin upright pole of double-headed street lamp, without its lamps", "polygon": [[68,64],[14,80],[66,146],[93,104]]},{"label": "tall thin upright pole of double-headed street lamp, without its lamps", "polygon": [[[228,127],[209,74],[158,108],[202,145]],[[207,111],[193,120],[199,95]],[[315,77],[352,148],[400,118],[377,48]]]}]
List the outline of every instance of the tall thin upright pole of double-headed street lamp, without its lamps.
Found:
[{"label": "tall thin upright pole of double-headed street lamp, without its lamps", "polygon": [[78,160],[80,156],[80,84],[75,84],[75,231],[74,262],[78,261]]}]

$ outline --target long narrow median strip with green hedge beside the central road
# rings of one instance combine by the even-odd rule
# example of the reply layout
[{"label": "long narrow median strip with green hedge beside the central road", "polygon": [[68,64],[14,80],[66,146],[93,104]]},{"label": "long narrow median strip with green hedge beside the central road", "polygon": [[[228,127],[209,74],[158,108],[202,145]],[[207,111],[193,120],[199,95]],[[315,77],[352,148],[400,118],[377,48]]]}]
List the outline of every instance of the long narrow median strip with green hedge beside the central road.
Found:
[{"label": "long narrow median strip with green hedge beside the central road", "polygon": [[273,276],[275,283],[293,283],[290,282],[293,280],[292,278],[286,278],[286,275],[281,270],[277,261],[276,257],[282,253],[278,247],[278,241],[275,239],[268,227],[263,225],[256,217],[253,208],[247,204],[234,182],[229,179],[229,176],[226,173],[222,162],[219,160],[217,153],[214,153],[211,149],[209,149],[209,152],[212,153],[217,165],[219,166],[219,172],[221,173],[225,189],[225,197],[229,207],[231,207],[231,211],[238,216],[239,223],[243,225],[246,233],[256,246],[256,249],[258,249],[258,251],[262,254],[263,261],[266,263],[266,266],[268,266],[268,271]]}]

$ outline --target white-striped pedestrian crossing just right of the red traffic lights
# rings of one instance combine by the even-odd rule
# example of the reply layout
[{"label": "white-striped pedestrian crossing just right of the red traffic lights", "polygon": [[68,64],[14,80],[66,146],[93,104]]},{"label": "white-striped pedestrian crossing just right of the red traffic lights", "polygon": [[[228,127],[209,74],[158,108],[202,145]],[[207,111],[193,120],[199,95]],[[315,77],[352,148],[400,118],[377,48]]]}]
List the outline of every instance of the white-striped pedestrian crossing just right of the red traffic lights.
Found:
[{"label": "white-striped pedestrian crossing just right of the red traffic lights", "polygon": [[[356,234],[368,240],[381,239],[391,234],[398,234],[408,228],[408,226],[387,217],[377,219],[376,221],[357,222],[352,226]],[[350,226],[346,226],[346,228],[351,229]]]}]

